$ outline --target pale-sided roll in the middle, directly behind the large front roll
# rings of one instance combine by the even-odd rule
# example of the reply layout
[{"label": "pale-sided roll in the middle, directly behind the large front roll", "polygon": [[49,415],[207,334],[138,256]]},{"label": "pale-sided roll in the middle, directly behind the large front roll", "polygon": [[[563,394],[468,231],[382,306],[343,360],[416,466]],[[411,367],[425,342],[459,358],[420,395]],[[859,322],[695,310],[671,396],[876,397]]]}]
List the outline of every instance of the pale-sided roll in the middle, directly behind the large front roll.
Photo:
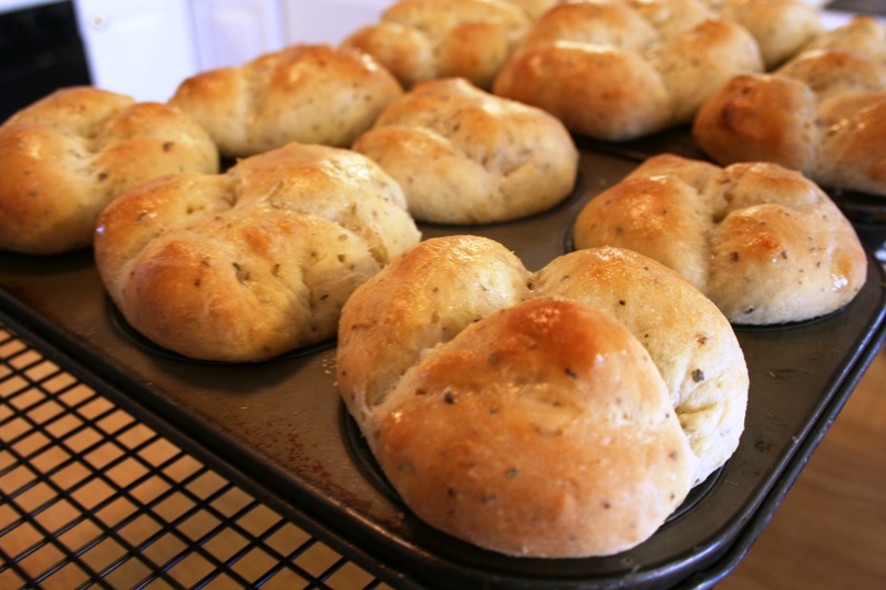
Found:
[{"label": "pale-sided roll in the middle, directly behind the large front roll", "polygon": [[353,149],[403,188],[415,219],[490,224],[546,210],[569,196],[578,149],[553,115],[464,79],[415,85]]}]

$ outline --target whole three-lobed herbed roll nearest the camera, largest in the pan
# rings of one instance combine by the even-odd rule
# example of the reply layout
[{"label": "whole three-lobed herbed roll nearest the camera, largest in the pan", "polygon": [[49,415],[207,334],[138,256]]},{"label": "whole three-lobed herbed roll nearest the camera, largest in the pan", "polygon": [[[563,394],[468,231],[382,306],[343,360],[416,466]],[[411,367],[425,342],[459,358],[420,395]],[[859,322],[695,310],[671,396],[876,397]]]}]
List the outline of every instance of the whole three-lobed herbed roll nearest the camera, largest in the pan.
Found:
[{"label": "whole three-lobed herbed roll nearest the camera, largest in the pan", "polygon": [[748,369],[689,281],[629,250],[537,272],[425,240],[348,299],[341,396],[421,519],[521,557],[627,550],[732,455]]}]

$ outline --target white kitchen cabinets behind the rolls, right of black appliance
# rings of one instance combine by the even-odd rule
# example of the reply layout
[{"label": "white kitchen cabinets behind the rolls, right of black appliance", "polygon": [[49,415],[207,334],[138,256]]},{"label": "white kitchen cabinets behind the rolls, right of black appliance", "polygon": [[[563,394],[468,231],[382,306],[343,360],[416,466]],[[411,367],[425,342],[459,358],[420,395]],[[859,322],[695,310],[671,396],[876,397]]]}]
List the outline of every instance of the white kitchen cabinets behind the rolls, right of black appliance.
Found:
[{"label": "white kitchen cabinets behind the rolls, right of black appliance", "polygon": [[74,0],[93,83],[165,102],[197,72],[295,43],[338,44],[393,0]]}]

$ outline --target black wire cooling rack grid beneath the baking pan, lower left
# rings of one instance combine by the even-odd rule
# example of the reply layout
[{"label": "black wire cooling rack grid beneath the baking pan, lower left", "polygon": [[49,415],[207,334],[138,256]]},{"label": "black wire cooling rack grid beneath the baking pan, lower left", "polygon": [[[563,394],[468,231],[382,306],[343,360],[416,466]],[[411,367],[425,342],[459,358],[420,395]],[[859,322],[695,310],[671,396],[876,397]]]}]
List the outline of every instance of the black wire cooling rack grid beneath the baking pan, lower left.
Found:
[{"label": "black wire cooling rack grid beneath the baking pan, lower left", "polygon": [[0,324],[0,588],[387,584]]}]

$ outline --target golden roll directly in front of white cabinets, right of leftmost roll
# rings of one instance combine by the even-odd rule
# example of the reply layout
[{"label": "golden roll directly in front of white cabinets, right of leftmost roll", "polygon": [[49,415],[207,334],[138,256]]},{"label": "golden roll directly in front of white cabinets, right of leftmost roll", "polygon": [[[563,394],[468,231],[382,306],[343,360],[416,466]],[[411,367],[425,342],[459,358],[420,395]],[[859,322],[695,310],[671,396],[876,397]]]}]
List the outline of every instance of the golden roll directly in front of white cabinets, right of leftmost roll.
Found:
[{"label": "golden roll directly in front of white cabinets, right of leftmost roll", "polygon": [[403,90],[371,56],[299,44],[188,77],[169,104],[194,116],[227,157],[289,142],[348,147]]}]

